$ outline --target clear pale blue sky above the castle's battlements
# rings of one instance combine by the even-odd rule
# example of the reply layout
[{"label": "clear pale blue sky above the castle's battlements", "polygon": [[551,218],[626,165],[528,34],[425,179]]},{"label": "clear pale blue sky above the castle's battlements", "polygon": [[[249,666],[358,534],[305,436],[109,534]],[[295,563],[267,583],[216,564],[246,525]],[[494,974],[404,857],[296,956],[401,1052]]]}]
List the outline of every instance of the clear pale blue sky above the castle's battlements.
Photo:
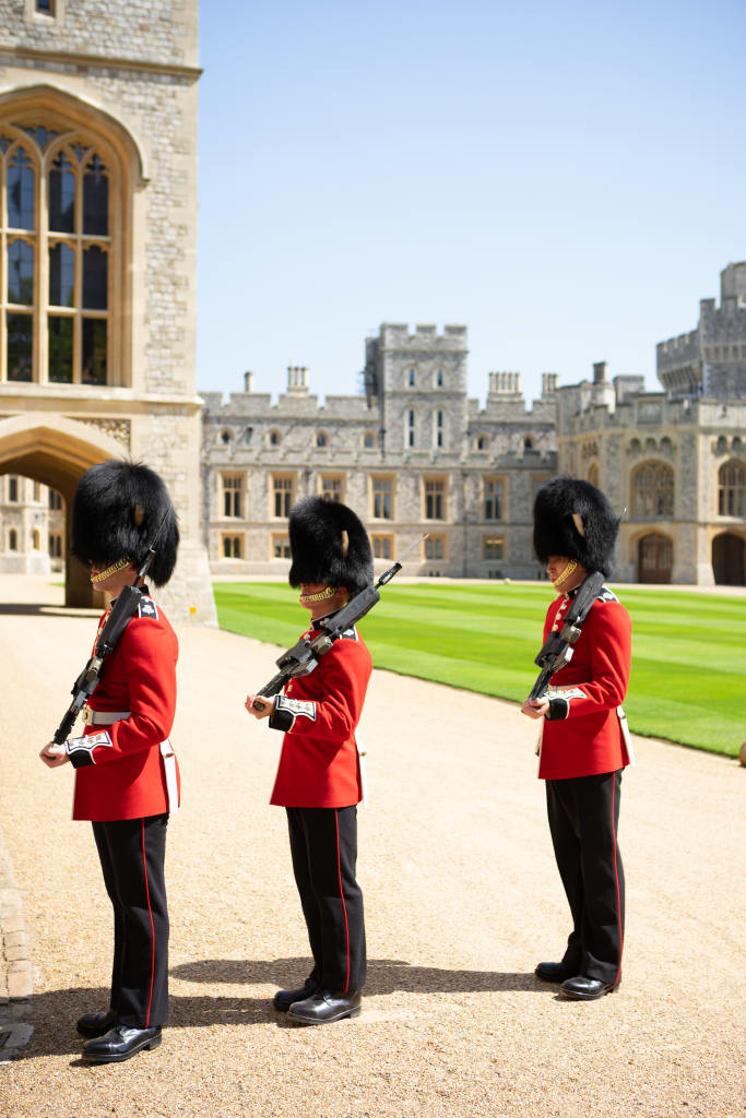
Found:
[{"label": "clear pale blue sky above the castle's battlements", "polygon": [[746,4],[200,7],[198,386],[353,392],[380,322],[465,323],[469,388],[657,388],[746,257]]}]

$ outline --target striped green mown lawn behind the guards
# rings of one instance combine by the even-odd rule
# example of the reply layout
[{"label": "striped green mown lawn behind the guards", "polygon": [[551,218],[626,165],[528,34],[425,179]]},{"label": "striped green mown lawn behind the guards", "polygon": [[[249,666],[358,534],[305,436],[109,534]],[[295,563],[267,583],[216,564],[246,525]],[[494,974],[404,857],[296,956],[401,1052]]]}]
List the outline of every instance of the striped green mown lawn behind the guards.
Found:
[{"label": "striped green mown lawn behind the guards", "polygon": [[[216,582],[221,628],[294,644],[306,610],[280,582]],[[736,756],[746,738],[746,599],[621,586],[632,615],[624,704],[638,733]],[[548,585],[393,582],[360,623],[376,667],[522,701],[551,600]],[[267,680],[274,674],[267,657]],[[257,680],[259,686],[266,680]]]}]

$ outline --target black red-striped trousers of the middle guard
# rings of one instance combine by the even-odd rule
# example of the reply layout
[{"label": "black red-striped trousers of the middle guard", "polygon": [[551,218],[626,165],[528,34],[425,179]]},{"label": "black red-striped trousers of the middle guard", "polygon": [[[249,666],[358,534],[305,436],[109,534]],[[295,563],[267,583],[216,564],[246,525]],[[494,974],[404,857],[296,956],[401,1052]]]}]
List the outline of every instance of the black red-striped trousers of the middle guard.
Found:
[{"label": "black red-striped trousers of the middle guard", "polygon": [[357,807],[287,807],[295,884],[309,929],[310,982],[333,994],[362,989],[366,929],[355,880]]}]

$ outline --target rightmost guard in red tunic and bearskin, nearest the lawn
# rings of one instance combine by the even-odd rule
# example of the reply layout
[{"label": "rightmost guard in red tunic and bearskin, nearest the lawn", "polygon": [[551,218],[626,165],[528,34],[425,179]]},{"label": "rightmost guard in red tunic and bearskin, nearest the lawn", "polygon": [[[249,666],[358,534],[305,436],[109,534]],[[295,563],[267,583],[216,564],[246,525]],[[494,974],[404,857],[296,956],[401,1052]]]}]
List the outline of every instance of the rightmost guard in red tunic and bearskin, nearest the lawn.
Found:
[{"label": "rightmost guard in red tunic and bearskin, nearest the lawn", "polygon": [[[607,499],[588,482],[555,477],[538,491],[533,547],[560,591],[547,612],[545,641],[561,629],[587,576],[608,576],[617,530]],[[624,873],[616,833],[622,769],[633,760],[622,710],[631,636],[630,615],[603,586],[569,663],[551,678],[546,695],[521,708],[542,720],[539,777],[573,916],[561,960],[540,963],[536,974],[579,1001],[610,993],[622,976]]]}]

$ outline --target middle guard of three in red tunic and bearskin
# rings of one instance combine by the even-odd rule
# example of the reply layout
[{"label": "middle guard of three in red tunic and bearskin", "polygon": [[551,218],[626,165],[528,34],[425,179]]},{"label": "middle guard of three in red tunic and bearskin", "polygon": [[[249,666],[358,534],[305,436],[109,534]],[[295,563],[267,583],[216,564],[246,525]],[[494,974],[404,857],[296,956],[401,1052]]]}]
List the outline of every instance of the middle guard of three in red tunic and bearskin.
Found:
[{"label": "middle guard of three in red tunic and bearskin", "polygon": [[[304,636],[372,584],[372,553],[360,520],[343,504],[305,498],[290,513],[291,586],[311,610]],[[313,968],[274,1006],[304,1024],[360,1012],[366,982],[362,893],[356,881],[357,804],[362,798],[356,730],[372,664],[357,628],[347,629],[308,675],[246,709],[284,732],[272,803],[287,813],[295,883]]]}]

